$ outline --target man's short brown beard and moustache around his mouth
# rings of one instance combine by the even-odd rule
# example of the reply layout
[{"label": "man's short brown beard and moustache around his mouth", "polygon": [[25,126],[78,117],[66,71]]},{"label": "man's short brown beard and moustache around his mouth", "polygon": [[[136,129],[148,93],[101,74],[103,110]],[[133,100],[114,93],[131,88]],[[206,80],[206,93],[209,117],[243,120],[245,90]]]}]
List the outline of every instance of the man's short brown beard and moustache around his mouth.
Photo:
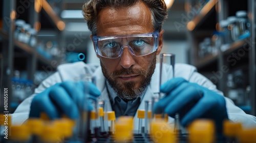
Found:
[{"label": "man's short brown beard and moustache around his mouth", "polygon": [[[151,77],[155,71],[156,68],[156,56],[153,59],[151,64],[148,66],[148,73],[146,74],[146,70],[140,69],[140,70],[133,70],[133,69],[121,69],[119,71],[114,71],[111,73],[111,75],[108,75],[108,72],[106,71],[106,68],[102,66],[102,73],[105,76],[106,80],[110,83],[111,87],[115,90],[117,95],[122,98],[124,101],[130,101],[134,100],[135,98],[141,97],[143,93],[145,92],[145,89],[147,88],[147,85],[150,84]],[[127,75],[127,74],[139,74],[142,76],[141,83],[139,84],[139,87],[135,87],[134,81],[129,81],[120,83],[115,78],[119,75]]]}]

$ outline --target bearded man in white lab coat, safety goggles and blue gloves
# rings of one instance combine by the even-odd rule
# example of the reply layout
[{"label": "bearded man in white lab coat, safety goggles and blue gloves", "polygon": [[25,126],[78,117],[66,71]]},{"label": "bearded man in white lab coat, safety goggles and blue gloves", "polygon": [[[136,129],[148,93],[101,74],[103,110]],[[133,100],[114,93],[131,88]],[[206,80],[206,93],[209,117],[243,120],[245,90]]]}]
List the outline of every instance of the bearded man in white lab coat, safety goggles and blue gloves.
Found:
[{"label": "bearded man in white lab coat, safety goggles and blue gloves", "polygon": [[[144,109],[144,101],[160,90],[165,96],[155,111],[170,117],[179,113],[185,127],[197,118],[214,120],[219,131],[225,119],[241,122],[244,127],[256,125],[255,117],[246,115],[192,66],[176,64],[173,78],[172,67],[165,65],[164,84],[159,89],[156,55],[163,47],[161,25],[167,16],[164,1],[94,0],[84,4],[83,15],[100,66],[82,62],[59,66],[34,95],[20,104],[13,114],[14,122],[39,117],[40,112],[46,112],[51,119],[61,115],[77,118],[85,90],[89,96],[106,100],[116,117],[136,117],[137,109]],[[74,81],[84,74],[96,77],[96,86]],[[86,104],[90,108],[91,104]],[[135,125],[137,121],[134,118]]]}]

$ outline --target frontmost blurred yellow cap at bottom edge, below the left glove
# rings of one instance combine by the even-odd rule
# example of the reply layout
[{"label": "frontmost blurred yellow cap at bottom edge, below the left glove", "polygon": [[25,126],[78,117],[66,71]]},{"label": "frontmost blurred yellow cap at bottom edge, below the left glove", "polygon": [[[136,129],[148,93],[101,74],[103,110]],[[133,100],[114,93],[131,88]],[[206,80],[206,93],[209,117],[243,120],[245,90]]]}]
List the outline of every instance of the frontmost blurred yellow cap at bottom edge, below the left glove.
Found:
[{"label": "frontmost blurred yellow cap at bottom edge, below the left glove", "polygon": [[57,142],[60,140],[60,136],[61,133],[59,132],[57,126],[51,122],[44,126],[40,138],[45,142]]}]

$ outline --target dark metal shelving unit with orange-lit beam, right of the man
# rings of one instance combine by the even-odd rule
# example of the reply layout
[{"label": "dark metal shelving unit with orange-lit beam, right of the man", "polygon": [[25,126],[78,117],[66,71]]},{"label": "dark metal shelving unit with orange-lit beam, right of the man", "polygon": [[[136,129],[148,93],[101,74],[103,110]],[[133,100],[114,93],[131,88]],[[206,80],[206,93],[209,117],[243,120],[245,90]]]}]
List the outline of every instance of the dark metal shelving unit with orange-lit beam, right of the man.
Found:
[{"label": "dark metal shelving unit with orange-lit beam, right of the man", "polygon": [[[193,1],[187,0],[187,3],[193,3]],[[195,65],[198,68],[198,71],[202,74],[205,74],[206,77],[210,78],[214,75],[213,73],[221,71],[221,69],[225,66],[228,68],[228,72],[222,72],[222,77],[218,79],[217,87],[219,90],[225,93],[227,89],[227,75],[239,68],[239,66],[243,65],[247,67],[245,73],[248,76],[248,85],[251,87],[250,95],[250,105],[251,105],[251,115],[256,115],[256,51],[255,51],[255,0],[248,0],[247,6],[243,3],[241,7],[236,7],[234,3],[240,3],[239,1],[227,1],[227,0],[210,0],[200,9],[198,14],[192,18],[187,23],[188,29],[188,40],[190,41],[190,64]],[[242,3],[242,2],[241,2]],[[233,4],[230,6],[230,4]],[[248,12],[248,18],[250,21],[250,37],[244,40],[236,41],[228,45],[226,50],[221,50],[221,46],[224,43],[221,43],[220,47],[218,47],[217,54],[209,54],[204,58],[199,58],[198,47],[200,41],[204,37],[210,37],[212,32],[217,31],[219,21],[226,19],[228,16],[234,14],[234,12],[238,10],[246,10]],[[242,8],[242,9],[240,9]],[[212,16],[216,17],[212,17]],[[216,19],[214,24],[208,24],[212,21],[212,19]],[[208,25],[207,25],[208,24]],[[241,57],[243,60],[237,60],[236,66],[230,66],[227,57],[232,55],[233,53],[237,53],[241,51],[244,47],[249,47],[250,50],[244,52],[245,56]],[[244,50],[245,51],[245,50]]]}]

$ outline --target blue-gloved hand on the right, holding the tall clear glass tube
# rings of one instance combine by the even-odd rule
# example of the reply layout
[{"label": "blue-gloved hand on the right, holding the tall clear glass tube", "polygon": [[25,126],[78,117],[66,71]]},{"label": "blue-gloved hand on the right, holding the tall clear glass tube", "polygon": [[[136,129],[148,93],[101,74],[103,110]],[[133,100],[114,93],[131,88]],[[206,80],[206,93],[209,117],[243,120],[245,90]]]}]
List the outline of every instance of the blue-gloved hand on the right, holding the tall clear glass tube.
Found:
[{"label": "blue-gloved hand on the right, holding the tall clear glass tube", "polygon": [[187,127],[198,118],[215,121],[217,131],[222,131],[222,122],[227,119],[225,98],[197,83],[183,78],[173,78],[160,87],[166,95],[155,104],[155,112],[167,113],[173,117],[179,113],[180,123]]}]

